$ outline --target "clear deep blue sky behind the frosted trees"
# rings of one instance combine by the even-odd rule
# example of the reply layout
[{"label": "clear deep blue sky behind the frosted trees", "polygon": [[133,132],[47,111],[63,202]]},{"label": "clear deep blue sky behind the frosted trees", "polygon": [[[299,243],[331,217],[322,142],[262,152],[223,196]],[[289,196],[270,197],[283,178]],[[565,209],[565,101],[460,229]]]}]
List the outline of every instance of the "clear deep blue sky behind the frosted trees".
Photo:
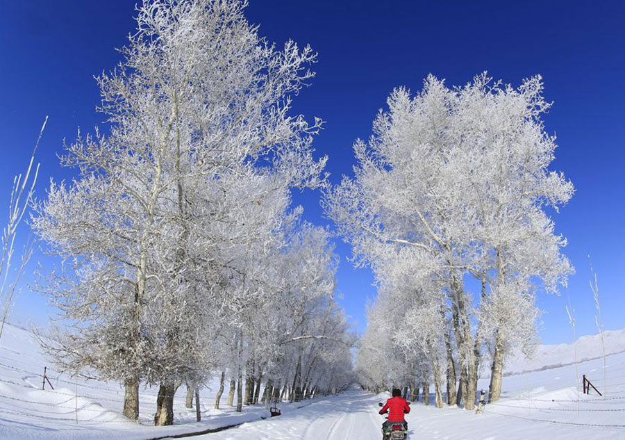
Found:
[{"label": "clear deep blue sky behind the frosted trees", "polygon": [[[392,88],[418,90],[430,72],[450,84],[483,70],[514,84],[542,74],[547,98],[555,101],[546,117],[560,145],[553,167],[577,189],[555,218],[558,232],[569,239],[565,252],[577,273],[561,297],[540,295],[541,336],[546,343],[570,340],[567,292],[578,333],[595,332],[588,254],[599,274],[606,328],[625,327],[625,2],[250,2],[247,17],[269,40],[293,38],[319,52],[317,78],[294,110],[327,121],[316,148],[330,156],[334,182],[351,173],[353,140],[369,136]],[[70,177],[56,154],[77,127],[91,131],[102,122],[94,111],[99,95],[92,76],[119,60],[113,48],[133,30],[134,5],[0,0],[0,200],[8,196],[12,175],[26,166],[44,115],[50,119],[38,154],[38,195],[49,178]],[[327,223],[317,193],[299,195],[297,202],[306,218]],[[349,247],[338,243],[338,252],[341,302],[362,330],[366,299],[375,295],[372,275],[351,267]],[[43,298],[24,288],[12,318],[42,324],[49,312]]]}]

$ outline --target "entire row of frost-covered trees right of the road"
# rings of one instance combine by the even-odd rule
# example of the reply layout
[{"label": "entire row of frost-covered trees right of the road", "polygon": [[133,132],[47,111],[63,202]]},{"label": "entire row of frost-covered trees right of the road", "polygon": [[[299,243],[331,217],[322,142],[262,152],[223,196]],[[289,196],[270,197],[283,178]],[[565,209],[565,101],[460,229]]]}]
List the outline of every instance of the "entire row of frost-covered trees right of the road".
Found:
[{"label": "entire row of frost-covered trees right of the road", "polygon": [[369,389],[433,382],[437,406],[446,395],[473,409],[484,364],[494,401],[506,357],[531,353],[536,293],[572,272],[549,213],[574,188],[549,170],[556,143],[542,93],[540,76],[514,88],[487,74],[461,88],[428,76],[414,96],[394,90],[354,146],[355,176],[326,193],[326,212],[379,287],[358,352]]}]

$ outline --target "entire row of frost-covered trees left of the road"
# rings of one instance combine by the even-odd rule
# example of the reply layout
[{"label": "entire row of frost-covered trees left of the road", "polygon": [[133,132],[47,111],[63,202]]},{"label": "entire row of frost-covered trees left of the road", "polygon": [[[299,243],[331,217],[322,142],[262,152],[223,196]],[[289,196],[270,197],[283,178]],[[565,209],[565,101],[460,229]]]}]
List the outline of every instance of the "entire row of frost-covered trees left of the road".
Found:
[{"label": "entire row of frost-covered trees left of the road", "polygon": [[140,383],[159,384],[158,425],[178,386],[215,375],[215,405],[230,380],[238,410],[350,380],[328,232],[290,206],[325,181],[322,122],[290,115],[316,55],[260,38],[245,6],[144,2],[122,62],[97,78],[106,134],[78,133],[62,158],[77,177],[33,215],[60,256],[41,285],[60,310],[45,348],[64,370],[123,382],[130,418]]}]

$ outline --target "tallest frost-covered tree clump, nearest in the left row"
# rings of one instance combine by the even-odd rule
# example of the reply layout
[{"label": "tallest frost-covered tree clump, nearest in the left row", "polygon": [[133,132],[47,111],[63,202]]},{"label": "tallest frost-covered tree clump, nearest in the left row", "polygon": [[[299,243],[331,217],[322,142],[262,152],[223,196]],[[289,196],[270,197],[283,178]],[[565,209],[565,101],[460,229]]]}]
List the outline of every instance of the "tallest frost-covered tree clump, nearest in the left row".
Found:
[{"label": "tallest frost-covered tree clump, nearest in the left row", "polygon": [[311,142],[321,122],[290,115],[315,54],[267,43],[244,6],[138,8],[122,62],[98,78],[108,131],[67,147],[63,165],[78,177],[51,184],[33,220],[63,258],[44,288],[72,325],[50,349],[69,370],[122,380],[131,418],[148,380],[160,383],[156,423],[172,422],[177,384],[217,364],[206,341],[222,307],[258,293],[252,255],[288,188],[320,183],[326,159],[313,159]]}]

